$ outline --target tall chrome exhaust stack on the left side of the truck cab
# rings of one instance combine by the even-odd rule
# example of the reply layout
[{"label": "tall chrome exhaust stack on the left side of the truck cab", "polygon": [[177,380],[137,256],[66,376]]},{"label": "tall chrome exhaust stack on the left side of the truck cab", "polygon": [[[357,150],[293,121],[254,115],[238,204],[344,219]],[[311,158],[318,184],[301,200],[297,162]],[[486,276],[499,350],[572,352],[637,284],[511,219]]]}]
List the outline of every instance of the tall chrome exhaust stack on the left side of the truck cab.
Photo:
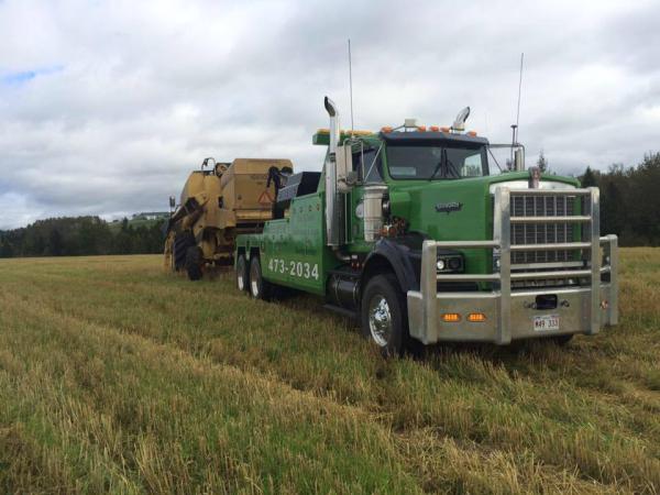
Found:
[{"label": "tall chrome exhaust stack on the left side of the truck cab", "polygon": [[326,97],[323,105],[330,116],[330,144],[326,156],[326,243],[339,248],[342,243],[341,212],[337,191],[337,146],[339,143],[339,111],[334,102]]}]

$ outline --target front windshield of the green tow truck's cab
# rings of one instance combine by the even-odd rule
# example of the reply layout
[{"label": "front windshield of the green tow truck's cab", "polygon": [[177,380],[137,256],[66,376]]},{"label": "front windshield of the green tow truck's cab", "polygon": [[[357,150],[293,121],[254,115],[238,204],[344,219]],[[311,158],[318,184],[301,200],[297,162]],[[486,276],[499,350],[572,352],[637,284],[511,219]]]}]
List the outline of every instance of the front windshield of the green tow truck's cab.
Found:
[{"label": "front windshield of the green tow truck's cab", "polygon": [[458,179],[488,175],[484,146],[388,146],[387,167],[395,179]]}]

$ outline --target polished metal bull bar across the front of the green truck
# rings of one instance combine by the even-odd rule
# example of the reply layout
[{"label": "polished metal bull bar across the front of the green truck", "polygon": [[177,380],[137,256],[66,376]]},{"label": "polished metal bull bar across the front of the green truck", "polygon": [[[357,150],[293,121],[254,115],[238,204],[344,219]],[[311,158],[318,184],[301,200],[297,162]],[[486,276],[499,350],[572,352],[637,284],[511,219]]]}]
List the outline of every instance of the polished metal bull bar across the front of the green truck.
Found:
[{"label": "polished metal bull bar across the front of the green truck", "polygon": [[[566,195],[586,199],[588,215],[561,217],[515,217],[510,212],[510,198],[515,195]],[[510,226],[518,222],[551,223],[569,222],[587,226],[581,242],[543,244],[510,243]],[[541,337],[531,330],[531,317],[543,314],[530,309],[528,300],[537,295],[553,293],[561,296],[565,307],[561,310],[569,328],[558,334],[596,334],[603,324],[618,322],[618,250],[616,235],[600,235],[598,189],[508,189],[495,191],[494,235],[485,241],[425,241],[421,251],[421,276],[419,290],[409,290],[408,322],[410,336],[425,344],[442,340],[491,341],[508,344],[512,340]],[[602,263],[602,248],[605,262]],[[438,249],[492,249],[499,254],[499,272],[487,274],[438,274],[436,270]],[[581,250],[588,253],[588,263],[575,270],[552,270],[537,272],[512,272],[512,252],[531,250]],[[603,275],[608,280],[603,282]],[[547,280],[559,278],[590,279],[590,285],[575,287],[536,287],[512,289],[515,280]],[[494,283],[492,290],[439,293],[439,282]],[[512,306],[513,301],[515,307]],[[475,312],[485,311],[485,322],[461,324],[444,323],[441,315],[458,309]],[[548,312],[548,311],[546,311]],[[526,328],[526,322],[528,327]],[[453,326],[453,327],[452,327]],[[552,332],[548,334],[553,334]]]}]

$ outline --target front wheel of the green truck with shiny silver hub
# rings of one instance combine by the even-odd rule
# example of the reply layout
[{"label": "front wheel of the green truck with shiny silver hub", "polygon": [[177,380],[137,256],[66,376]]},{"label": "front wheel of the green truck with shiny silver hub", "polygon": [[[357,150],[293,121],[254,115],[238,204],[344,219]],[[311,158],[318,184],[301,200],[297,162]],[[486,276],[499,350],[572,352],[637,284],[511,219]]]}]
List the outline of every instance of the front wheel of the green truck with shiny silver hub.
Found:
[{"label": "front wheel of the green truck with shiny silver hub", "polygon": [[361,304],[362,333],[384,355],[402,355],[408,341],[406,302],[394,274],[367,282]]}]

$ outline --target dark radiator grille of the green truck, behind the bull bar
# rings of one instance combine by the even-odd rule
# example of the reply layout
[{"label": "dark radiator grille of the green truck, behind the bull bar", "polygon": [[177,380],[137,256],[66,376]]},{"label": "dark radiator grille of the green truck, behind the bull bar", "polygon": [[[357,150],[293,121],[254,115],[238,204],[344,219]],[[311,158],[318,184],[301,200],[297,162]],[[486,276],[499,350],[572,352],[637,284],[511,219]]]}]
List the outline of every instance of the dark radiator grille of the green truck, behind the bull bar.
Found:
[{"label": "dark radiator grille of the green truck, behind the bull bar", "polygon": [[[512,217],[565,217],[575,209],[574,196],[516,195],[510,199]],[[573,242],[575,227],[566,222],[512,224],[512,245],[554,244]],[[512,264],[560,263],[571,261],[569,250],[518,251],[512,253]]]}]

